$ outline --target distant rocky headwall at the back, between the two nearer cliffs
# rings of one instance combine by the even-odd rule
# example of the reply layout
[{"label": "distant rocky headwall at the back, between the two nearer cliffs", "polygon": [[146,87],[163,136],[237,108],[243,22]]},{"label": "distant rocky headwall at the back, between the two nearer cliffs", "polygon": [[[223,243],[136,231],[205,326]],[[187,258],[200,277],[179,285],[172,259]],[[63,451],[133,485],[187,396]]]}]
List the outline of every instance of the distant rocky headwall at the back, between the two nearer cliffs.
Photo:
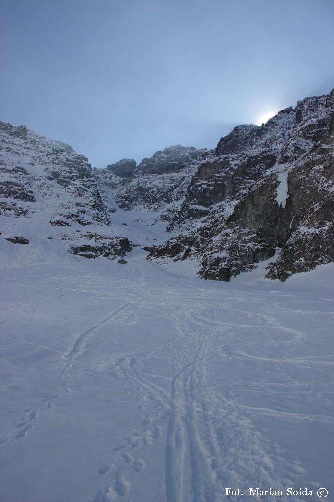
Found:
[{"label": "distant rocky headwall at the back, between the two nearer cliffs", "polygon": [[[106,169],[94,170],[93,174],[111,211],[115,207],[125,210],[143,207],[155,217],[171,221],[194,173],[210,156],[212,150],[174,145],[143,159],[138,166],[134,160],[124,159]],[[124,169],[129,163],[131,171]]]}]

